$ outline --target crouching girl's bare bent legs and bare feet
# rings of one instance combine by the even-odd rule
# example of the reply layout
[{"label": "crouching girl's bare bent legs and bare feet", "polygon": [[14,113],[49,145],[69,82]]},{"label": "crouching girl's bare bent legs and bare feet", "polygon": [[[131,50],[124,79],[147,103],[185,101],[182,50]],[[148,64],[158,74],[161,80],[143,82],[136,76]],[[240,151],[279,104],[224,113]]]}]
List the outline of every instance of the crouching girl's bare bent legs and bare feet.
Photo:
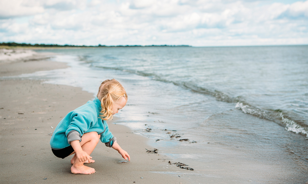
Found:
[{"label": "crouching girl's bare bent legs and bare feet", "polygon": [[[88,155],[92,153],[94,148],[96,147],[97,143],[99,142],[100,135],[97,134],[97,132],[89,132],[84,133],[82,136],[82,139],[80,141],[80,145],[83,151],[87,152]],[[72,153],[74,154],[75,151]],[[74,155],[75,160],[71,163],[73,166],[71,167],[71,172],[73,174],[92,174],[95,173],[95,170],[91,167],[84,166],[84,162],[80,162],[77,157]],[[73,158],[74,158],[73,157]],[[90,162],[94,162],[94,160],[90,160]]]}]

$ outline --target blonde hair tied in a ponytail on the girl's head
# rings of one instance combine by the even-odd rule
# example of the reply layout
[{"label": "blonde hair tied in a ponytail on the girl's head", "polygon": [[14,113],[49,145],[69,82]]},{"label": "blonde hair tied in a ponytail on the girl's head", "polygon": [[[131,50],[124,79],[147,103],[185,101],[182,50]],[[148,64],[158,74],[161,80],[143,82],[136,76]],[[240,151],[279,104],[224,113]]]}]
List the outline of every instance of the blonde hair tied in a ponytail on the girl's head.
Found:
[{"label": "blonde hair tied in a ponytail on the girl's head", "polygon": [[99,118],[102,120],[111,120],[113,117],[112,107],[122,96],[127,100],[126,91],[117,80],[104,80],[102,84],[100,84],[97,93],[97,98],[100,100],[100,105],[102,107]]}]

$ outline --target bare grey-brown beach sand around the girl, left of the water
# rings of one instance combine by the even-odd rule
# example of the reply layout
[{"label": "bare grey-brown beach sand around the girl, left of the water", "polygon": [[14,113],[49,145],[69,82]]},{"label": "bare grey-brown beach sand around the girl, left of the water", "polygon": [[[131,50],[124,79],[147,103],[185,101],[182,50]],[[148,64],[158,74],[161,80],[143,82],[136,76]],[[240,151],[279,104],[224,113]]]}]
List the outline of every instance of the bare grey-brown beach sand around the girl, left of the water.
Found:
[{"label": "bare grey-brown beach sand around the girl, left of the water", "polygon": [[72,156],[61,159],[53,155],[50,133],[68,112],[92,99],[93,94],[37,80],[3,78],[66,67],[35,58],[0,65],[0,183],[193,183],[177,174],[161,174],[182,169],[168,165],[169,160],[162,160],[167,157],[160,153],[146,153],[145,149],[154,149],[147,145],[147,138],[117,125],[116,119],[108,122],[109,128],[131,161],[119,164],[124,160],[121,155],[99,143],[91,154],[95,163],[87,164],[96,173],[71,174]]}]

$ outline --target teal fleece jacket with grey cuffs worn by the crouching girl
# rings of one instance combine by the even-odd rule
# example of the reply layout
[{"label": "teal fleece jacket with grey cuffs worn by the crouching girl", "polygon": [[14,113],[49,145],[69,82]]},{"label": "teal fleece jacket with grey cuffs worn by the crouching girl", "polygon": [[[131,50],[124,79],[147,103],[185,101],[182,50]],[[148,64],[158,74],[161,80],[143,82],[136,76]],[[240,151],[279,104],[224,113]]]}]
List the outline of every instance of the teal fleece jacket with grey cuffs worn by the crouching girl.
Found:
[{"label": "teal fleece jacket with grey cuffs worn by the crouching girl", "polygon": [[51,137],[52,149],[63,149],[70,146],[71,141],[81,141],[81,136],[88,132],[97,132],[100,140],[108,147],[112,147],[116,138],[109,131],[107,122],[99,118],[100,101],[96,97],[93,101],[69,112],[57,125]]}]

